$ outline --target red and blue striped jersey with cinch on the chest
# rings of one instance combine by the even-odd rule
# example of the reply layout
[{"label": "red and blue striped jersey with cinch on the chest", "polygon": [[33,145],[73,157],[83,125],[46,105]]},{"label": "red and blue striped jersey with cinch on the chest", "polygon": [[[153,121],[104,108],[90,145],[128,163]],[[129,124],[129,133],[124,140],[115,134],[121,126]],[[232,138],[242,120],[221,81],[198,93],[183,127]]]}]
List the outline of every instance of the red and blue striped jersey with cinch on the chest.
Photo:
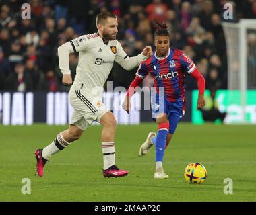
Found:
[{"label": "red and blue striped jersey with cinch on the chest", "polygon": [[137,77],[143,79],[149,73],[154,78],[156,93],[164,87],[164,97],[171,102],[185,99],[185,73],[192,73],[195,64],[181,50],[169,48],[164,58],[156,56],[156,52],[139,65]]}]

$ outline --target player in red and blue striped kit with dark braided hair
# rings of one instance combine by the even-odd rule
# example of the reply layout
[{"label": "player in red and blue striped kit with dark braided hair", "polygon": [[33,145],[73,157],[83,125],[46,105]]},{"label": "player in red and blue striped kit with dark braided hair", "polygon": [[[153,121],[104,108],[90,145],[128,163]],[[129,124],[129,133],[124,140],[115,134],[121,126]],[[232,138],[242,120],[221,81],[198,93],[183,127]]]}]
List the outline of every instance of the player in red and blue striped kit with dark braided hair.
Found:
[{"label": "player in red and blue striped kit with dark braided hair", "polygon": [[170,47],[170,35],[166,24],[159,23],[154,34],[156,51],[152,57],[141,62],[136,77],[131,83],[127,96],[123,102],[123,109],[129,113],[131,108],[130,98],[134,94],[146,75],[154,78],[154,89],[151,93],[152,118],[158,124],[158,132],[150,132],[146,141],[139,149],[139,155],[146,155],[155,145],[156,148],[156,172],[155,179],[166,179],[162,166],[164,150],[168,146],[177,124],[185,114],[185,73],[197,79],[199,97],[197,109],[205,105],[203,94],[205,91],[205,79],[198,71],[193,61],[181,50]]}]

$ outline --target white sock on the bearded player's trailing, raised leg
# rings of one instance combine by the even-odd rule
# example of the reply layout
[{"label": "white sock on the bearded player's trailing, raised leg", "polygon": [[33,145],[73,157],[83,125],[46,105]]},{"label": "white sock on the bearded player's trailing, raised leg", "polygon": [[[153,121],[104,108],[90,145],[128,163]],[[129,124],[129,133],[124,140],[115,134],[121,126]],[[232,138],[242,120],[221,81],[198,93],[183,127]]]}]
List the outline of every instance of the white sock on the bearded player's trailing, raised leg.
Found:
[{"label": "white sock on the bearded player's trailing, raised leg", "polygon": [[43,148],[42,157],[49,161],[49,159],[52,155],[58,153],[60,150],[63,150],[67,146],[69,146],[69,142],[67,142],[63,138],[63,136],[60,132],[51,144],[49,144],[48,146]]}]

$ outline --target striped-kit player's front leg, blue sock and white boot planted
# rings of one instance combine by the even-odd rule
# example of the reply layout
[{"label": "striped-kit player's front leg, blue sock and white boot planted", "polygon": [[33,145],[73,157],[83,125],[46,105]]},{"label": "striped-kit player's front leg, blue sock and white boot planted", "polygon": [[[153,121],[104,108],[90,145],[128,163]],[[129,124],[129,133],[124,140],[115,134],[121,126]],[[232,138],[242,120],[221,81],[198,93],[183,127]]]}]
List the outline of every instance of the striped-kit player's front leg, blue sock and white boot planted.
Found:
[{"label": "striped-kit player's front leg, blue sock and white boot planted", "polygon": [[168,175],[164,173],[162,162],[164,159],[164,150],[166,146],[166,139],[169,132],[169,122],[167,114],[158,114],[156,118],[158,124],[158,133],[156,136],[156,172],[154,174],[155,179],[167,179]]}]

